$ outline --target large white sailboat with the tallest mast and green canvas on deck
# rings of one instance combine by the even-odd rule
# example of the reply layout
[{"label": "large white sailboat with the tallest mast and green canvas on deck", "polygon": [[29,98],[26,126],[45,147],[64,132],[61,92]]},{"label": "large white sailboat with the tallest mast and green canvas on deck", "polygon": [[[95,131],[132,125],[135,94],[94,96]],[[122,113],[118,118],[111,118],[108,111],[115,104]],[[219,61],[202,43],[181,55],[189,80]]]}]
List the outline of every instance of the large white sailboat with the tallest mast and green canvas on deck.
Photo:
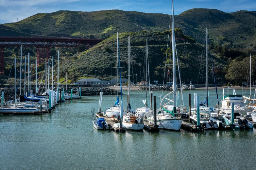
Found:
[{"label": "large white sailboat with the tallest mast and green canvas on deck", "polygon": [[[182,120],[181,118],[177,117],[177,111],[179,111],[179,108],[177,107],[177,93],[178,90],[176,89],[176,53],[175,53],[175,35],[174,35],[174,11],[173,11],[173,0],[172,0],[172,64],[173,64],[173,91],[166,94],[160,103],[160,113],[157,114],[157,125],[161,129],[167,129],[167,130],[174,130],[179,131],[181,128]],[[167,96],[169,96],[171,93],[173,93],[173,99],[168,99]],[[167,99],[168,102],[166,104],[163,104],[163,100]],[[170,105],[169,103],[173,102],[173,105]],[[154,115],[147,116],[147,121],[150,124],[154,124]]]}]

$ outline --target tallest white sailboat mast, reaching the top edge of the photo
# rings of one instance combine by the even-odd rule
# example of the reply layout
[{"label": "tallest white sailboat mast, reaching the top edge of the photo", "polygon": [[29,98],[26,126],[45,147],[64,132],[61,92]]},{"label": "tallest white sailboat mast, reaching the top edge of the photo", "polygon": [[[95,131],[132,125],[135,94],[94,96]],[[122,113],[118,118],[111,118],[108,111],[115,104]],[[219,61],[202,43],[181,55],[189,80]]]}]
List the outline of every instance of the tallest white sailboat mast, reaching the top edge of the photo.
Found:
[{"label": "tallest white sailboat mast, reaching the top edge of the photo", "polygon": [[[173,106],[176,107],[176,61],[175,61],[175,35],[174,35],[174,12],[172,0],[172,66],[173,66]],[[176,110],[175,110],[176,111]]]}]

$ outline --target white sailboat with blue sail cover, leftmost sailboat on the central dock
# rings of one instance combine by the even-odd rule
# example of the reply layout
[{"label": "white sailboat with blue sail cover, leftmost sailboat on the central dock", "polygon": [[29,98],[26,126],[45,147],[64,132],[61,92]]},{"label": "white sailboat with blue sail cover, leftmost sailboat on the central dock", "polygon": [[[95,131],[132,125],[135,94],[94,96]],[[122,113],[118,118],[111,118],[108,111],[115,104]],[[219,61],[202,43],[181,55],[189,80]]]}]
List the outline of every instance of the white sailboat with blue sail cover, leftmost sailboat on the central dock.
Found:
[{"label": "white sailboat with blue sail cover, leftmost sailboat on the central dock", "polygon": [[[121,72],[121,68],[119,67],[119,62],[120,62],[120,54],[119,54],[119,36],[118,36],[118,31],[117,31],[117,99],[115,102],[115,105],[110,108],[107,108],[105,116],[108,118],[117,118],[117,116],[120,116],[120,105],[119,105],[119,96],[118,96],[118,85],[119,85],[119,72]],[[121,73],[120,73],[120,78],[121,78]],[[122,83],[120,81],[120,89],[121,89],[121,100],[122,100]],[[124,111],[125,113],[125,111]]]}]

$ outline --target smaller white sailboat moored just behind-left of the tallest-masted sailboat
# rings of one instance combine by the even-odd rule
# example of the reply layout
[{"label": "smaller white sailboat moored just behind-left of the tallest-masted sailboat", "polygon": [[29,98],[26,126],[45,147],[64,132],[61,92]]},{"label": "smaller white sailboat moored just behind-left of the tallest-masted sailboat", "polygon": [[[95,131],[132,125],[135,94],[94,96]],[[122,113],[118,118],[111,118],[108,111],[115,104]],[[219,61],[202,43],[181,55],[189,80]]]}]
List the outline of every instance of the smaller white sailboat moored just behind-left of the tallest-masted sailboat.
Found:
[{"label": "smaller white sailboat moored just behind-left of the tallest-masted sailboat", "polygon": [[[147,77],[148,77],[148,86],[149,86],[149,92],[150,92],[150,81],[149,81],[149,62],[148,62],[148,48],[147,48],[147,40],[146,40],[146,82],[147,82]],[[144,107],[137,108],[135,112],[137,113],[138,117],[144,118],[145,114],[148,114],[148,112],[151,110],[147,106],[147,85],[146,85],[146,99],[143,100],[143,104],[145,105]],[[151,103],[150,103],[151,105]]]}]

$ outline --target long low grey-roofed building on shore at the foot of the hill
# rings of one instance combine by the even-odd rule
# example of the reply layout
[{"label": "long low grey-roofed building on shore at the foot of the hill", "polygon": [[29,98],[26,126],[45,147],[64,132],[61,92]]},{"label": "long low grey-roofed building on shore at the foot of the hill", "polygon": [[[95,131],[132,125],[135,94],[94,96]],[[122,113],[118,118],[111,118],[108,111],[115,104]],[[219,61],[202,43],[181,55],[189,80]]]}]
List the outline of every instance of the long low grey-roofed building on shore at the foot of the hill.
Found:
[{"label": "long low grey-roofed building on shore at the foot of the hill", "polygon": [[[118,79],[120,83],[120,79]],[[128,82],[128,79],[122,78],[122,83]],[[83,84],[83,85],[93,85],[93,84],[116,84],[117,78],[112,78],[111,80],[100,80],[98,78],[82,78],[76,82],[77,84]]]}]

